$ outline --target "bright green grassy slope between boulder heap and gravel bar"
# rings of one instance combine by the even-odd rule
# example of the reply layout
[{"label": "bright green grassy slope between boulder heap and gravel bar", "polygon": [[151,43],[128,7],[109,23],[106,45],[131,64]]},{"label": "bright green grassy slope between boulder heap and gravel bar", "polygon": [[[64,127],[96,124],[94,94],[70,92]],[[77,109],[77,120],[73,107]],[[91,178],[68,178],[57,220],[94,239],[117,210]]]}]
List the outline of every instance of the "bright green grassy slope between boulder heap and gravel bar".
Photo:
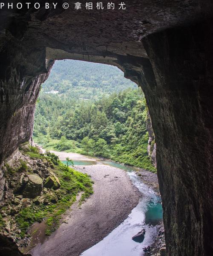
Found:
[{"label": "bright green grassy slope between boulder heap and gravel bar", "polygon": [[83,192],[80,204],[93,193],[92,180],[86,174],[67,168],[60,161],[53,164],[49,157],[41,154],[32,151],[26,152],[26,154],[34,159],[46,158],[50,161],[51,171],[59,178],[61,186],[57,191],[51,189],[52,193],[59,198],[56,204],[51,203],[51,198],[46,197],[47,200],[49,199],[49,204],[32,204],[17,214],[16,221],[21,230],[20,235],[24,237],[33,223],[41,222],[43,219],[46,219],[47,224],[46,235],[50,235],[58,227],[61,215],[75,202],[79,192]]}]

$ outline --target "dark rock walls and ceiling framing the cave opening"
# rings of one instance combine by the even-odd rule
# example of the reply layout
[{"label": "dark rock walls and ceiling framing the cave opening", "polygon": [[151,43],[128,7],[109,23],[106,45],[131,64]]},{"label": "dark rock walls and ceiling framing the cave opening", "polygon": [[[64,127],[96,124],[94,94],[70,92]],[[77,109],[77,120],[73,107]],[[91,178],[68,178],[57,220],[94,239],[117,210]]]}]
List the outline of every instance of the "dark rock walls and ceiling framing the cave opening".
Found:
[{"label": "dark rock walls and ceiling framing the cave opening", "polygon": [[0,162],[30,139],[40,83],[55,59],[115,65],[147,99],[167,255],[210,256],[213,5],[196,0],[126,3],[126,11],[112,12],[1,11]]}]

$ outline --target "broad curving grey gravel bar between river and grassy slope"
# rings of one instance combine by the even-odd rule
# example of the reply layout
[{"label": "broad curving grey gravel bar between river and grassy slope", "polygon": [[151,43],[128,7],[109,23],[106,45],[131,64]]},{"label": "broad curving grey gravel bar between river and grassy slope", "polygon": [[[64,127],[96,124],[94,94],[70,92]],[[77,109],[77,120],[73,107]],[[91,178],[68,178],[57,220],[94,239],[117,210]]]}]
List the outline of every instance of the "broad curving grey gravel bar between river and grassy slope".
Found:
[{"label": "broad curving grey gravel bar between river and grassy slope", "polygon": [[125,171],[102,164],[75,169],[91,175],[94,194],[81,209],[73,207],[66,223],[37,244],[32,256],[78,256],[121,224],[138,204],[141,194]]}]

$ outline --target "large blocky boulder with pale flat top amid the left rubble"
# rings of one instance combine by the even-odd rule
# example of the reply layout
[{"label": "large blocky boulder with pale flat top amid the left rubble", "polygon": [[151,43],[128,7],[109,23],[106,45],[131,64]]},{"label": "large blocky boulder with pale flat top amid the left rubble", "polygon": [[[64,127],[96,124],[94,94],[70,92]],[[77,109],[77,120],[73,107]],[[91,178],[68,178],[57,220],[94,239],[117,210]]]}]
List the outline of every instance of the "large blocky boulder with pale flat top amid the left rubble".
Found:
[{"label": "large blocky boulder with pale flat top amid the left rubble", "polygon": [[37,174],[27,175],[21,194],[25,198],[36,198],[43,188],[43,180]]}]

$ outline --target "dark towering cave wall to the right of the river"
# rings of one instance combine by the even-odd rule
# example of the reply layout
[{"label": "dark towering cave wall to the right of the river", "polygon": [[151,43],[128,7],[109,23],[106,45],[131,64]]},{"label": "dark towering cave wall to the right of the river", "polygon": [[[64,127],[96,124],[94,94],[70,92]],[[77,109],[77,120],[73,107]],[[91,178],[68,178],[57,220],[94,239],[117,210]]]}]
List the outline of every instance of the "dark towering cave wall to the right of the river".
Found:
[{"label": "dark towering cave wall to the right of the river", "polygon": [[[212,22],[143,39],[168,255],[209,255],[213,234]],[[145,85],[145,86],[144,86]]]}]

